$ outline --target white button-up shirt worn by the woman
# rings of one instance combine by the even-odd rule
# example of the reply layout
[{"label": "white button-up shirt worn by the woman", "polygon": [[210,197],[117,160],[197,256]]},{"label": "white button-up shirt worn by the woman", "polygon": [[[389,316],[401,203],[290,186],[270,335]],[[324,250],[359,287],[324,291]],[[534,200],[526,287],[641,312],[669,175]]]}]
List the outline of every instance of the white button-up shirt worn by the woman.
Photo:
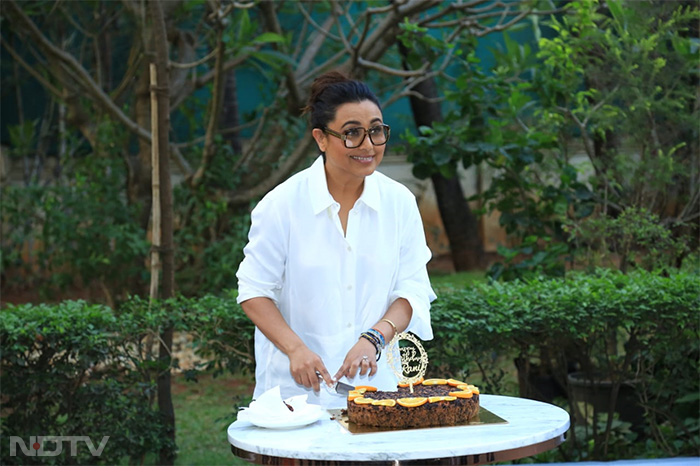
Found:
[{"label": "white button-up shirt worn by the woman", "polygon": [[[249,242],[238,277],[238,302],[267,297],[285,321],[317,353],[333,375],[361,332],[389,305],[405,298],[413,308],[407,331],[433,337],[433,292],[426,264],[431,258],[418,206],[402,184],[374,172],[348,215],[343,234],[337,203],[326,182],[323,158],[270,191],[253,209]],[[386,351],[386,350],[385,350]],[[255,393],[279,385],[283,398],[308,394],[309,402],[333,408],[345,398],[297,384],[289,358],[255,331]],[[386,357],[372,377],[353,385],[395,389]]]}]

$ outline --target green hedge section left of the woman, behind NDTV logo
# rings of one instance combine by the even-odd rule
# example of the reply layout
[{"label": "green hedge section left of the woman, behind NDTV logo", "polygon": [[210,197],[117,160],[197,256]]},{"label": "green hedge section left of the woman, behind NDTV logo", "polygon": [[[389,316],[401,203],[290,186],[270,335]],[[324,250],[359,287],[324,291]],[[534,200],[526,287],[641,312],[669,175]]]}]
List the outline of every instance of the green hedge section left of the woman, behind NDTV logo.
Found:
[{"label": "green hedge section left of the woman, behind NDTV logo", "polygon": [[[149,305],[137,297],[116,312],[84,301],[56,305],[10,305],[2,310],[2,464],[115,464],[139,462],[149,452],[175,448],[154,405],[156,378],[170,367],[158,362],[160,328],[195,335],[197,352],[208,358],[202,369],[245,373],[254,364],[253,325],[235,303],[223,297],[176,298]],[[99,457],[79,445],[54,457],[10,456],[9,438],[109,436]],[[53,445],[45,447],[55,450]]]}]

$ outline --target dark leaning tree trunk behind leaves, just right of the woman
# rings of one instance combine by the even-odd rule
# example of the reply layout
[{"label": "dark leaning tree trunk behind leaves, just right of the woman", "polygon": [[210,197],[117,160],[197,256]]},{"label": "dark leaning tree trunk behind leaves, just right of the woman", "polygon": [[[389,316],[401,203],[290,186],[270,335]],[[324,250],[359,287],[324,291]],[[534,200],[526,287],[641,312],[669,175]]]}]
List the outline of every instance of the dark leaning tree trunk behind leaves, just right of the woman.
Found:
[{"label": "dark leaning tree trunk behind leaves, just right of the woman", "polygon": [[[400,44],[401,55],[407,56],[407,50]],[[404,60],[405,61],[405,60]],[[422,81],[414,88],[425,98],[411,95],[411,111],[416,127],[432,126],[433,122],[442,120],[440,103],[430,99],[438,97],[435,79]],[[452,264],[455,270],[474,270],[483,266],[484,246],[479,237],[479,222],[469,208],[459,176],[445,178],[440,173],[434,173],[430,179],[435,189],[438,209],[442,224],[450,242]]]}]

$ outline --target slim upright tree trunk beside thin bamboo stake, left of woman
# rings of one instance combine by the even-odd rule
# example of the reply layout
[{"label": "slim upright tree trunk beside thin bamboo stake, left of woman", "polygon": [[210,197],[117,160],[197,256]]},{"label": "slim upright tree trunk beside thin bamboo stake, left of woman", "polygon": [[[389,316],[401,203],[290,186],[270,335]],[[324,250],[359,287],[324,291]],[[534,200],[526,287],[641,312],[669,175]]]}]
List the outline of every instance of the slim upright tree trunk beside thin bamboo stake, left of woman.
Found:
[{"label": "slim upright tree trunk beside thin bamboo stake, left of woman", "polygon": [[[168,77],[168,42],[165,20],[160,1],[149,2],[153,27],[156,74],[158,77],[158,146],[160,147],[160,205],[161,205],[161,262],[163,267],[161,298],[175,295],[175,263],[173,245],[173,196],[170,180],[170,157],[168,135],[170,133],[170,79]],[[158,375],[158,409],[163,416],[171,445],[161,448],[159,464],[175,463],[175,410],[171,393],[170,364],[172,360],[173,328],[161,329],[158,360],[161,369]]]}]

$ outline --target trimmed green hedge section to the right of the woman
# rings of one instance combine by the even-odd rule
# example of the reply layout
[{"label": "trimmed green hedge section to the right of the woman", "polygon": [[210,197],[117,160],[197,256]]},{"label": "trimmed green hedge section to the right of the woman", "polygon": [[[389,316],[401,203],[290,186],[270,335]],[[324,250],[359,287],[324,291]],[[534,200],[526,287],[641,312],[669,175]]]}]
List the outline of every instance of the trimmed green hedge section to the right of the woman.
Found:
[{"label": "trimmed green hedge section to the right of the woman", "polygon": [[432,310],[435,339],[426,344],[431,367],[437,364],[458,377],[478,373],[486,393],[511,394],[502,383],[503,371],[507,358],[516,357],[521,396],[535,395],[528,384],[546,373],[565,391],[572,417],[570,371],[613,387],[612,409],[597,412],[591,426],[579,426],[591,427],[592,436],[584,429],[586,438],[577,438],[582,430],[574,423],[566,459],[611,459],[620,453],[612,451],[620,440],[615,432],[624,431],[616,411],[622,407],[619,390],[629,381],[644,411],[644,426],[633,426],[634,431],[646,443],[629,443],[624,453],[634,455],[631,449],[641,444],[661,456],[698,454],[697,274],[599,269],[566,279],[476,284],[438,294]]}]

